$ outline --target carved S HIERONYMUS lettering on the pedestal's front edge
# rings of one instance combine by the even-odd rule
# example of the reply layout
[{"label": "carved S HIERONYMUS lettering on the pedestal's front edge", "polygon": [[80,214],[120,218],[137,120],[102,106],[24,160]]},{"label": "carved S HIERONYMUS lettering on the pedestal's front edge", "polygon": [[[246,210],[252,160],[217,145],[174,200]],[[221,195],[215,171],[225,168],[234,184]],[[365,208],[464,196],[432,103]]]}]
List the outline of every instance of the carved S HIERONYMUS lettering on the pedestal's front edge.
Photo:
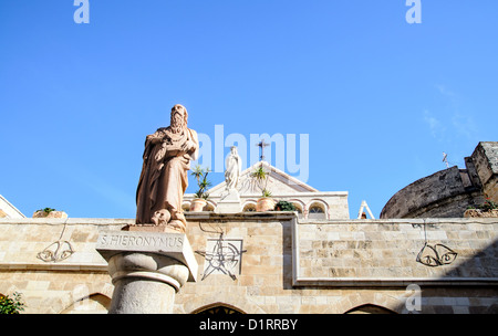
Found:
[{"label": "carved S HIERONYMUS lettering on the pedestal's front edge", "polygon": [[125,234],[101,234],[98,243],[105,246],[127,248],[181,248],[183,237],[157,237],[157,235],[125,235]]}]

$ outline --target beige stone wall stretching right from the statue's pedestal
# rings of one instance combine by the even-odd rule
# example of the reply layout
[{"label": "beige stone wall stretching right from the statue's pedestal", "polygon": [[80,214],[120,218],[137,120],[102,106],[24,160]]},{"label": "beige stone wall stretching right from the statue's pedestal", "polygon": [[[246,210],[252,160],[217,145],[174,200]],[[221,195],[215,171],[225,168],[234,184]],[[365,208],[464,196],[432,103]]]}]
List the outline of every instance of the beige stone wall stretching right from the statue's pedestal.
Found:
[{"label": "beige stone wall stretching right from the statue's pedestal", "polygon": [[[190,221],[191,222],[191,221]],[[454,264],[437,270],[415,261],[425,242],[457,251]],[[484,312],[498,303],[494,245],[498,220],[454,222],[295,221],[253,217],[229,221],[210,217],[193,222],[193,246],[208,238],[245,238],[241,274],[211,274],[187,283],[175,312],[191,313],[214,303],[246,313],[345,313],[371,304],[406,312],[406,287],[423,290],[423,313]],[[218,233],[216,233],[218,232]],[[205,260],[197,261],[204,270]],[[204,271],[201,271],[204,272]],[[471,304],[470,304],[471,303]]]}]

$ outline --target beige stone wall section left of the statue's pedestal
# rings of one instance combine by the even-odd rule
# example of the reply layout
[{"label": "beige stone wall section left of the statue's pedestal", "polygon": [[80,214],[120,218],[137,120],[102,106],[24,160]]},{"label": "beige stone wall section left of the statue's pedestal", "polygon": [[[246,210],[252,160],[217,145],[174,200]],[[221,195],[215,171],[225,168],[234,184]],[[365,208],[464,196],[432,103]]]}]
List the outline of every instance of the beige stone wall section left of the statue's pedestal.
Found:
[{"label": "beige stone wall section left of the statue's pedestal", "polygon": [[[0,293],[21,293],[25,313],[106,313],[113,286],[107,264],[95,251],[95,242],[102,228],[120,230],[129,222],[53,218],[0,220]],[[64,260],[46,262],[39,258],[41,252],[45,251],[43,256],[49,256],[51,251],[60,259],[70,254],[70,249],[74,253]]]}]

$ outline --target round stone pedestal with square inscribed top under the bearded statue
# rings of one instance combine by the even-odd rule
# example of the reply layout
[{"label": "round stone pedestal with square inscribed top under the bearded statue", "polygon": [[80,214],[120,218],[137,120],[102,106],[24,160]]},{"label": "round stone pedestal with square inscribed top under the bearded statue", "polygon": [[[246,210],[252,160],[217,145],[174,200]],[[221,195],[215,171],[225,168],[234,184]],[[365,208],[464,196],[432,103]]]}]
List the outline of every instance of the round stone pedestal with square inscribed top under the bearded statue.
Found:
[{"label": "round stone pedestal with square inscribed top under the bearded statue", "polygon": [[175,293],[196,281],[197,262],[183,233],[105,231],[96,250],[114,284],[110,314],[168,314]]}]

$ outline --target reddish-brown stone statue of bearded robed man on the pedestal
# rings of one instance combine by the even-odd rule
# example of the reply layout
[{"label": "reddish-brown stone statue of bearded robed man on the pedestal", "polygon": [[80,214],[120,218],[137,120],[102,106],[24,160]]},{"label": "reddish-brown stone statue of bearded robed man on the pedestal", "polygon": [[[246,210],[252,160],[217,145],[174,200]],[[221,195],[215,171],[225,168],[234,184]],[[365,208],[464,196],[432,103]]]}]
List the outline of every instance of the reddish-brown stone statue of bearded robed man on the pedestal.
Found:
[{"label": "reddish-brown stone statue of bearded robed man on the pedestal", "polygon": [[136,224],[185,232],[181,203],[188,186],[187,171],[199,150],[197,133],[187,128],[187,109],[177,104],[172,108],[170,126],[146,137],[136,190]]}]

